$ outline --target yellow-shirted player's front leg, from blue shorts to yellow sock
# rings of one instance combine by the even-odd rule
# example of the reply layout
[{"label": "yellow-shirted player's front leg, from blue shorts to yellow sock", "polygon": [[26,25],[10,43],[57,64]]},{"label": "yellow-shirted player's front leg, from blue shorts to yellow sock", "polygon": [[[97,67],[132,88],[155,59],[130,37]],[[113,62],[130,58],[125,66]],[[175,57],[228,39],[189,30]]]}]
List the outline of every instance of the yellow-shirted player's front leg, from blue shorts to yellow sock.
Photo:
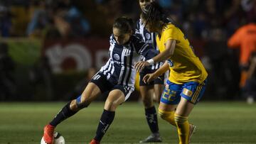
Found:
[{"label": "yellow-shirted player's front leg, from blue shorts to yellow sock", "polygon": [[[206,82],[206,81],[205,81]],[[187,144],[190,141],[193,128],[188,123],[188,116],[191,113],[193,106],[201,99],[206,88],[205,82],[187,82],[183,84],[181,92],[181,101],[179,102],[174,119],[178,130],[178,138],[180,144]],[[190,133],[190,131],[192,133]]]}]

